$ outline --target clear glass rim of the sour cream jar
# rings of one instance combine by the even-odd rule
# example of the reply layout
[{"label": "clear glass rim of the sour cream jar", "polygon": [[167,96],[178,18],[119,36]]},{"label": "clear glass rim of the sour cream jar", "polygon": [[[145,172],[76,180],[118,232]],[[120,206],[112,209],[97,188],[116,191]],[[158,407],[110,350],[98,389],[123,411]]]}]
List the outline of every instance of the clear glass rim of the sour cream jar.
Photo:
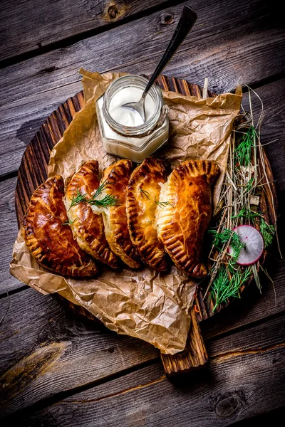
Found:
[{"label": "clear glass rim of the sour cream jar", "polygon": [[[137,84],[135,84],[137,83]],[[117,122],[113,119],[113,117],[110,115],[110,112],[108,110],[108,107],[110,105],[110,100],[112,99],[113,95],[115,95],[115,90],[118,90],[118,87],[120,86],[122,88],[126,87],[134,87],[134,88],[141,88],[144,90],[145,86],[147,85],[148,80],[141,75],[123,75],[122,77],[117,78],[114,80],[110,85],[108,86],[107,90],[105,91],[105,94],[103,95],[103,114],[105,116],[105,120],[108,123],[108,125],[113,128],[113,130],[120,132],[120,134],[124,134],[125,136],[135,136],[135,135],[143,135],[145,132],[150,130],[151,127],[154,127],[157,123],[157,120],[160,119],[162,107],[163,107],[163,98],[160,88],[158,88],[155,85],[152,85],[152,87],[149,90],[150,96],[152,96],[152,99],[155,102],[155,112],[153,115],[148,119],[145,123],[142,123],[142,125],[138,126],[125,126],[121,123]],[[140,86],[138,86],[140,85]]]}]

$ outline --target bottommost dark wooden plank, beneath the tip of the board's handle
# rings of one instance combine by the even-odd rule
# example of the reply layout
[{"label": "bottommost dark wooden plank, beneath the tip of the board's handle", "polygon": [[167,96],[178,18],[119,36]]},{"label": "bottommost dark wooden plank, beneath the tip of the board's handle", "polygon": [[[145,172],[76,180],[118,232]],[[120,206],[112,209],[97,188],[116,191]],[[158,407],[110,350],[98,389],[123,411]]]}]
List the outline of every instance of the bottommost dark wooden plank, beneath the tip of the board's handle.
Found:
[{"label": "bottommost dark wooden plank, beneath the tip of the board's handle", "polygon": [[208,369],[195,376],[169,381],[152,364],[46,408],[42,402],[40,410],[21,413],[21,424],[224,427],[279,408],[285,404],[284,327],[280,317],[213,342]]}]

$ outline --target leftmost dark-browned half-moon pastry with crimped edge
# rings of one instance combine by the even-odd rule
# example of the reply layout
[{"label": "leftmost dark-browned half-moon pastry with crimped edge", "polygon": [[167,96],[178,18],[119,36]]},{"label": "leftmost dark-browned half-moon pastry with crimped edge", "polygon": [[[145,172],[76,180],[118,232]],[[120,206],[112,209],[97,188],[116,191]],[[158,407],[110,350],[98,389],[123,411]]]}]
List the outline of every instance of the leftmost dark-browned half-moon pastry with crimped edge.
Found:
[{"label": "leftmost dark-browned half-moon pastry with crimped edge", "polygon": [[63,196],[60,175],[48,179],[33,193],[23,221],[26,246],[33,258],[49,270],[73,277],[93,276],[98,268],[73,238]]}]

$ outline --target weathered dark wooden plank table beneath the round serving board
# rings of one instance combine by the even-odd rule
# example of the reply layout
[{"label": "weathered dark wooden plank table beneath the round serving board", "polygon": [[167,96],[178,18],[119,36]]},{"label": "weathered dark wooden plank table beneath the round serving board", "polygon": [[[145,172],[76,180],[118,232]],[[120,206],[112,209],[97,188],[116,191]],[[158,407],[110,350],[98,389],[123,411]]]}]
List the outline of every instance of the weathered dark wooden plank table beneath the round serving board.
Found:
[{"label": "weathered dark wooden plank table beneath the round serving board", "polygon": [[[276,4],[275,4],[276,3]],[[250,85],[264,102],[266,145],[284,248],[285,31],[281,2],[192,0],[195,27],[165,74],[222,93]],[[276,420],[285,405],[285,264],[273,247],[262,295],[202,323],[209,364],[165,377],[157,350],[81,321],[9,275],[14,189],[31,138],[87,70],[150,74],[181,1],[2,0],[0,4],[1,426],[229,426]],[[247,421],[245,421],[247,423]]]}]

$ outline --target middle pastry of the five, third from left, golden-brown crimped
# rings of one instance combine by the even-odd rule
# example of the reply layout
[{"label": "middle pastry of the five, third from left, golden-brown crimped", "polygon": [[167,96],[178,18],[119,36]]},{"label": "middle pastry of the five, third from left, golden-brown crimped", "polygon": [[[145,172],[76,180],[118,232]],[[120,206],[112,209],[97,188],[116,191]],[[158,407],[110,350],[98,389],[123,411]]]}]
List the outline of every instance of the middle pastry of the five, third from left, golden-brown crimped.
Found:
[{"label": "middle pastry of the five, third from left, golden-brown crimped", "polygon": [[114,206],[103,209],[105,236],[110,248],[129,267],[140,268],[140,256],[130,240],[125,209],[125,191],[132,171],[133,162],[126,159],[107,167],[101,179],[104,186],[101,197],[112,196],[115,199]]}]

